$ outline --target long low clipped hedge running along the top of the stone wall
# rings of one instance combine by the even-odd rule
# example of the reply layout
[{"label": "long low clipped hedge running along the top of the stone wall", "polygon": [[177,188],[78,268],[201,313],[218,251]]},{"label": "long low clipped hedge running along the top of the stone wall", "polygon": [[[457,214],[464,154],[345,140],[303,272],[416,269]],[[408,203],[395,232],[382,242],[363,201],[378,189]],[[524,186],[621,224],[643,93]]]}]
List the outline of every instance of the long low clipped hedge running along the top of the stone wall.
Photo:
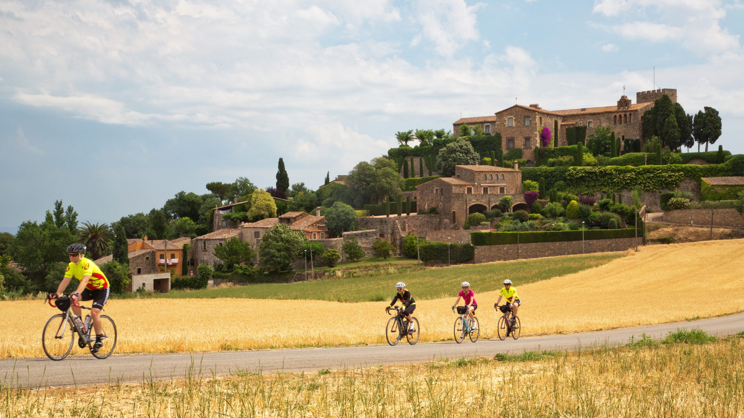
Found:
[{"label": "long low clipped hedge running along the top of the stone wall", "polygon": [[[638,222],[638,237],[644,236],[643,222]],[[634,238],[635,228],[625,229],[590,229],[583,231],[583,239]],[[528,231],[519,232],[519,243],[581,241],[582,231]],[[472,245],[505,245],[516,244],[516,232],[479,232],[470,233]]]}]

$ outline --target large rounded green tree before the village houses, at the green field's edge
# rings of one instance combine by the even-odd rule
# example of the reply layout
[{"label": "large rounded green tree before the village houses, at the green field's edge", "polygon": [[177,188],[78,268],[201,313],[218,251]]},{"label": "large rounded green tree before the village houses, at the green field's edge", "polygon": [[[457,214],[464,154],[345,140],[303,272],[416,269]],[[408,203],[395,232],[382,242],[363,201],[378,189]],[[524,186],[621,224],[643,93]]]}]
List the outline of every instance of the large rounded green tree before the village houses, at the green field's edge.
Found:
[{"label": "large rounded green tree before the village houses, at the green field's edge", "polygon": [[307,238],[301,231],[292,231],[285,224],[274,225],[261,239],[258,249],[260,266],[273,272],[287,271],[306,244]]}]

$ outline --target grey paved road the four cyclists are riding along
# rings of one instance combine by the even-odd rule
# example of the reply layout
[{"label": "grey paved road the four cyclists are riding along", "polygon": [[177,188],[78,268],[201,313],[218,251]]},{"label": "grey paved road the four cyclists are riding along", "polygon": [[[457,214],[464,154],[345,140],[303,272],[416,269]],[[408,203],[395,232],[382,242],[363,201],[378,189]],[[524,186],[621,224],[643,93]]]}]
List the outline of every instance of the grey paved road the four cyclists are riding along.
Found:
[{"label": "grey paved road the four cyclists are riding along", "polygon": [[142,382],[143,379],[170,379],[186,373],[202,376],[225,375],[231,371],[264,373],[315,371],[322,368],[363,367],[379,364],[407,364],[437,358],[493,356],[496,353],[522,353],[524,350],[571,350],[592,344],[623,344],[631,335],[645,332],[654,338],[663,337],[677,328],[700,327],[713,335],[729,335],[744,330],[744,314],[676,324],[615,329],[585,334],[550,335],[545,337],[511,338],[506,341],[481,340],[472,344],[455,342],[417,344],[401,341],[396,347],[367,346],[310,348],[297,350],[231,351],[222,353],[138,354],[112,356],[97,360],[92,356],[75,356],[62,361],[47,358],[0,360],[0,376],[6,382],[24,388],[47,386],[97,385],[109,382]]}]

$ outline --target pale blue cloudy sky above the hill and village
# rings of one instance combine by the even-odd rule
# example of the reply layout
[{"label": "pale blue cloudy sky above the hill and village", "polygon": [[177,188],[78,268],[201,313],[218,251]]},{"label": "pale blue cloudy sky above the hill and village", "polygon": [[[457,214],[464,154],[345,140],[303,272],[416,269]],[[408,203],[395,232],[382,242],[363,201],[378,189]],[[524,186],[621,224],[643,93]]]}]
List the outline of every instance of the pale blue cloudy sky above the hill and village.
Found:
[{"label": "pale blue cloudy sky above the hill and village", "polygon": [[310,187],[519,103],[678,89],[744,152],[741,0],[0,0],[0,230],[246,176]]}]

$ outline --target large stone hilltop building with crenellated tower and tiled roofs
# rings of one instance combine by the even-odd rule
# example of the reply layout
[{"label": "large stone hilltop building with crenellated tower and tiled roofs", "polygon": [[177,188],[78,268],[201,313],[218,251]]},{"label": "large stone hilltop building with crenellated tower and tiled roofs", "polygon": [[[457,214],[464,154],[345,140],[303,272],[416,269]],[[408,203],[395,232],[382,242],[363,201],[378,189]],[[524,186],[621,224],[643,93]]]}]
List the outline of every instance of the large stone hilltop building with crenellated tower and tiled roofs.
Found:
[{"label": "large stone hilltop building with crenellated tower and tiled roofs", "polygon": [[566,128],[586,126],[586,135],[589,136],[598,126],[612,125],[615,137],[620,139],[620,149],[623,149],[626,140],[641,138],[641,120],[644,112],[651,109],[654,101],[664,94],[670,97],[672,103],[677,102],[676,89],[657,89],[638,91],[635,94],[635,103],[623,95],[614,106],[545,110],[536,103],[530,106],[515,104],[496,112],[493,116],[458,119],[452,123],[452,132],[457,136],[463,124],[480,125],[488,135],[499,132],[504,152],[522,148],[522,158],[531,166],[535,161],[535,147],[541,146],[539,132],[543,126],[548,126],[553,132],[554,120],[558,121],[559,145],[568,145],[565,139]]}]

